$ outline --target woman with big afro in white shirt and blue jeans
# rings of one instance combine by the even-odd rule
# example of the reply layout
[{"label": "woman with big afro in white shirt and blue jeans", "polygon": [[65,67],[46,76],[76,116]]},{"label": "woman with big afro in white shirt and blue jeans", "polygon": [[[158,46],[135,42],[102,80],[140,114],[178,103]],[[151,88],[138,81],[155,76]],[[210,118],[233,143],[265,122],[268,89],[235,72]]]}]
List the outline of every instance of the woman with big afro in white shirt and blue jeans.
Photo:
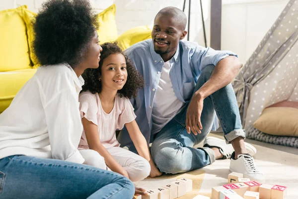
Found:
[{"label": "woman with big afro in white shirt and blue jeans", "polygon": [[81,164],[77,150],[80,75],[98,68],[102,50],[91,5],[49,0],[39,10],[33,46],[42,66],[0,114],[0,198],[132,199],[129,179]]}]

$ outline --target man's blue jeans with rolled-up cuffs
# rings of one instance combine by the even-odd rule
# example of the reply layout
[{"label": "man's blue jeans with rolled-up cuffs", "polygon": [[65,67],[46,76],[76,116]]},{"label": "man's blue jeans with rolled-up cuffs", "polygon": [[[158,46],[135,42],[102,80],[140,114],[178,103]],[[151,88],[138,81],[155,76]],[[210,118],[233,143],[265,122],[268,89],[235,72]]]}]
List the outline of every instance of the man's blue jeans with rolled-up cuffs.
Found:
[{"label": "man's blue jeans with rolled-up cuffs", "polygon": [[[195,91],[207,82],[213,72],[214,65],[207,66],[200,75]],[[157,168],[164,173],[183,173],[202,168],[215,161],[210,148],[193,148],[202,142],[211,131],[215,114],[217,114],[224,131],[226,142],[238,136],[245,138],[242,130],[239,109],[231,84],[204,100],[201,122],[201,134],[188,134],[185,128],[188,105],[170,120],[154,137],[151,146],[152,159]]]}]

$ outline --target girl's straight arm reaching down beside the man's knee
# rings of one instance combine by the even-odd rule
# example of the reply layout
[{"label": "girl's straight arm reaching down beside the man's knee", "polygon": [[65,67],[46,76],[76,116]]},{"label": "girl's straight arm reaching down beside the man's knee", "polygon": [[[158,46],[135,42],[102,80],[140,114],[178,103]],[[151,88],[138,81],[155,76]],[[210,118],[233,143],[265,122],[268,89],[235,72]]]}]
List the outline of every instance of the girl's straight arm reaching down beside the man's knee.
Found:
[{"label": "girl's straight arm reaching down beside the man's knee", "polygon": [[136,120],[133,120],[130,123],[125,124],[128,133],[139,153],[140,156],[145,158],[146,160],[149,161],[150,166],[151,166],[151,171],[150,171],[150,177],[154,178],[157,176],[161,176],[161,172],[156,168],[154,162],[152,161],[149,148],[147,146],[147,141],[144,137],[144,135],[141,133],[140,128],[136,122]]}]

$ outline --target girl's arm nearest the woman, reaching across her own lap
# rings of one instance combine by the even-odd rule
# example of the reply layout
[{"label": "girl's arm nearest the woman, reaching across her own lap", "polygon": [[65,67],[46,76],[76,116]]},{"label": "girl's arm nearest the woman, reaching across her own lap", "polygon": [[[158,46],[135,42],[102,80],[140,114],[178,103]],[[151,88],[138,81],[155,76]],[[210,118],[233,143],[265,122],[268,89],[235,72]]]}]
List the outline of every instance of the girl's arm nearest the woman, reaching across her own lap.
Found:
[{"label": "girl's arm nearest the woman, reaching across her own lap", "polygon": [[82,118],[82,122],[89,149],[97,151],[102,157],[104,157],[106,165],[113,172],[116,172],[129,178],[126,170],[113,158],[113,156],[100,143],[97,125],[87,120],[85,117]]}]

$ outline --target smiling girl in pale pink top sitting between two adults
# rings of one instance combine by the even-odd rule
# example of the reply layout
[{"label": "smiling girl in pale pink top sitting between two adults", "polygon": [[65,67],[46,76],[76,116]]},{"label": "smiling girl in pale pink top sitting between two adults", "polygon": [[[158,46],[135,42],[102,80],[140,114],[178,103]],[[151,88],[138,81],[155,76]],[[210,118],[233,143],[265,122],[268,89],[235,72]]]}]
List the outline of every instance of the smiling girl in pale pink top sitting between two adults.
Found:
[{"label": "smiling girl in pale pink top sitting between two adults", "polygon": [[[160,176],[129,100],[143,88],[144,81],[117,43],[104,43],[102,49],[99,68],[83,74],[79,108],[84,130],[79,152],[85,164],[108,167],[133,182],[148,177],[150,170],[150,176]],[[140,156],[119,147],[115,131],[124,125]]]}]

